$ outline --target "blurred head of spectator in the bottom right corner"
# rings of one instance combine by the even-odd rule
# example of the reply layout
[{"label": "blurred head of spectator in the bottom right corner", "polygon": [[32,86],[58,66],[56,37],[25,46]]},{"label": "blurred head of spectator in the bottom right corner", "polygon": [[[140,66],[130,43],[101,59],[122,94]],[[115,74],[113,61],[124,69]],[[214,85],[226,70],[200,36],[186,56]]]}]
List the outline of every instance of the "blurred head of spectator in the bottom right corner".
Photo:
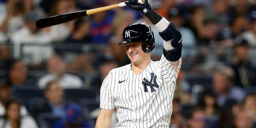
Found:
[{"label": "blurred head of spectator in the bottom right corner", "polygon": [[240,109],[234,115],[235,128],[255,128],[253,127],[252,116],[246,109]]}]

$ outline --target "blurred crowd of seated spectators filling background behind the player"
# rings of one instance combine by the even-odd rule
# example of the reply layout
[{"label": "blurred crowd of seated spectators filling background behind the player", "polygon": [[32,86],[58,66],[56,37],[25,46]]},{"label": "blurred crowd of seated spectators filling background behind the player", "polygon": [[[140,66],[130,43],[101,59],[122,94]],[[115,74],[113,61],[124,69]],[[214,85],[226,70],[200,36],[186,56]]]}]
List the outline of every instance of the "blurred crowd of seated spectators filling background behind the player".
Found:
[{"label": "blurred crowd of seated spectators filling background behind the player", "polygon": [[[38,29],[37,19],[122,0],[0,0],[0,128],[93,128],[102,80],[130,64],[128,7]],[[256,128],[256,0],[150,0],[182,33],[170,128]],[[80,95],[81,94],[81,95]],[[113,117],[112,127],[116,122]]]}]

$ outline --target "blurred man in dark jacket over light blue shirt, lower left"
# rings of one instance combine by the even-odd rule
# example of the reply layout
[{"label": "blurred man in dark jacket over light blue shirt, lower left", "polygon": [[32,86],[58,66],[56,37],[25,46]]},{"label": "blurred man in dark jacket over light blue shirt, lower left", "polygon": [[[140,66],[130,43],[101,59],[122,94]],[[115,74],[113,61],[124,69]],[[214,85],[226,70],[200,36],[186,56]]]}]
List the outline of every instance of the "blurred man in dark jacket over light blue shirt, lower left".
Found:
[{"label": "blurred man in dark jacket over light blue shirt, lower left", "polygon": [[44,88],[46,102],[38,104],[31,109],[37,117],[40,113],[50,112],[56,116],[64,116],[68,102],[64,100],[64,91],[57,81],[50,81]]}]

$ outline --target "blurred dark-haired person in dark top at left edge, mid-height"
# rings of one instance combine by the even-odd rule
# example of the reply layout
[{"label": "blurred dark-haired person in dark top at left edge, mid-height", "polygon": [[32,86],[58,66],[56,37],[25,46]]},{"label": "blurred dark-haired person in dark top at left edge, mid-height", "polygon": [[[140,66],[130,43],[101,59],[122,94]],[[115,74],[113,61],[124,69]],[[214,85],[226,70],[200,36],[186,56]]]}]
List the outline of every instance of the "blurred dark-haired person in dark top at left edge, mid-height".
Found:
[{"label": "blurred dark-haired person in dark top at left edge, mid-height", "polygon": [[8,63],[8,82],[13,86],[36,86],[36,79],[34,76],[28,75],[26,65],[20,59],[11,60]]}]

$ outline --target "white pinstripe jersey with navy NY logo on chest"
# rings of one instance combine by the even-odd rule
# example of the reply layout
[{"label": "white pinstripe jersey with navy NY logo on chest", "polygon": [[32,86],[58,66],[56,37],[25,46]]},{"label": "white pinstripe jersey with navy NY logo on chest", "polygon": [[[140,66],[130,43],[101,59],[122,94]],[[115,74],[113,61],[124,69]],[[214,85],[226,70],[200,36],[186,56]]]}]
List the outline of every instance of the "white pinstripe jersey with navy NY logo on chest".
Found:
[{"label": "white pinstripe jersey with navy NY logo on chest", "polygon": [[169,128],[178,67],[162,55],[136,75],[131,64],[115,68],[100,89],[100,108],[116,107],[116,128]]}]

